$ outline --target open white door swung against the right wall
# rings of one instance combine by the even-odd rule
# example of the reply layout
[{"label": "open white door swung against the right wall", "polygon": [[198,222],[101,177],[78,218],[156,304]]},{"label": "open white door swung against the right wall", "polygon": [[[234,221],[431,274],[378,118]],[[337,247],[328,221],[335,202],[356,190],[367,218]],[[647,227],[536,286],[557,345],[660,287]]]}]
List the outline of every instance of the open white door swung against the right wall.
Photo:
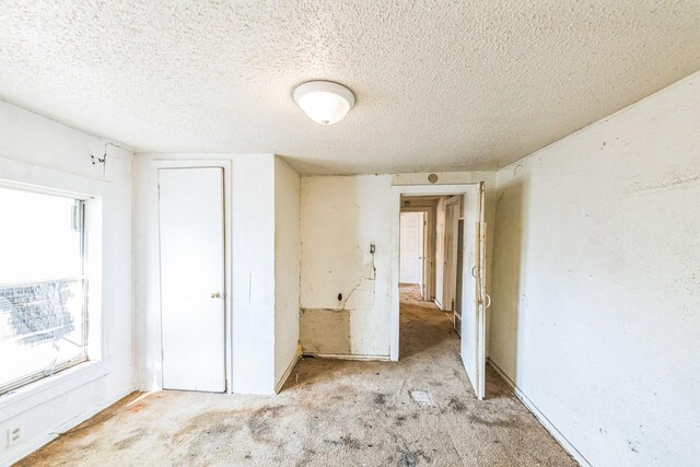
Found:
[{"label": "open white door swung against the right wall", "polygon": [[[486,394],[486,215],[483,183],[467,191],[463,202],[464,242],[462,361],[479,399]],[[471,233],[471,234],[470,234]]]}]

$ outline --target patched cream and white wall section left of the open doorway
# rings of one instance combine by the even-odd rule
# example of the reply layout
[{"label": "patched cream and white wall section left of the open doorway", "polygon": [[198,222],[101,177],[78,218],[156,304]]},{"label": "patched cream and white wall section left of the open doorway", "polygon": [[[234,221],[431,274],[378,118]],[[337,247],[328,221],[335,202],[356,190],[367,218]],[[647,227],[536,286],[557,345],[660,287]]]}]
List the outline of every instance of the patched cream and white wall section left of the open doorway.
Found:
[{"label": "patched cream and white wall section left of the open doorway", "polygon": [[388,175],[302,176],[304,352],[388,359],[390,201]]}]

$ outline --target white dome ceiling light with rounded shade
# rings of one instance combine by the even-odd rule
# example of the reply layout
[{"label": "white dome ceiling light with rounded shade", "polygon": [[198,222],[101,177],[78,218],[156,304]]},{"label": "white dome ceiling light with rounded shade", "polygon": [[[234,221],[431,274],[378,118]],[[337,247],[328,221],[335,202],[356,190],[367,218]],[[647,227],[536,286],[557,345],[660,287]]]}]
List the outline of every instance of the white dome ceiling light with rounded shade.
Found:
[{"label": "white dome ceiling light with rounded shade", "polygon": [[354,105],[352,91],[331,81],[308,81],[300,84],[292,96],[308,118],[320,125],[332,125],[342,120]]}]

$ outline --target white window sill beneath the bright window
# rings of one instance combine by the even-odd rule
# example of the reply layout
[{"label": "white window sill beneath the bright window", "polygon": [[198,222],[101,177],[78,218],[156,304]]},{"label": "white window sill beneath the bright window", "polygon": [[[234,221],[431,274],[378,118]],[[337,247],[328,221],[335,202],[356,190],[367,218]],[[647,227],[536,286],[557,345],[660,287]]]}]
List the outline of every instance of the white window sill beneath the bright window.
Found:
[{"label": "white window sill beneath the bright window", "polygon": [[107,374],[100,361],[89,361],[0,396],[0,421],[9,420]]}]

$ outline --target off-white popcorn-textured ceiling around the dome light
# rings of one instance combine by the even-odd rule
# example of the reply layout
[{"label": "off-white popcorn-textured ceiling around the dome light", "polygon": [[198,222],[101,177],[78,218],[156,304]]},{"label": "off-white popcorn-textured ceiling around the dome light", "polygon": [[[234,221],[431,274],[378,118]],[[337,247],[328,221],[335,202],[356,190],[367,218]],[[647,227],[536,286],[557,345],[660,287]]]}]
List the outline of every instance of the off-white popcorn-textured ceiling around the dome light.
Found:
[{"label": "off-white popcorn-textured ceiling around the dome light", "polygon": [[[0,98],[154,152],[304,173],[492,170],[700,69],[700,1],[0,5]],[[291,98],[351,87],[339,124]]]}]

